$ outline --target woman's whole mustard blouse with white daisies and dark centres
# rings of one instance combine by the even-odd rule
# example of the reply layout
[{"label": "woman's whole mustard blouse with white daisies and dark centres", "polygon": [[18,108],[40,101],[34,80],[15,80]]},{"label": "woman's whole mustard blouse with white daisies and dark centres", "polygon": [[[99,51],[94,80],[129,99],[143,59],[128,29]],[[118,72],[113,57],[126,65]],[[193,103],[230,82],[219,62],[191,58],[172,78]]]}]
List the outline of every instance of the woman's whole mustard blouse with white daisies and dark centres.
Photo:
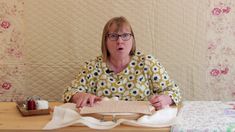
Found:
[{"label": "woman's whole mustard blouse with white daisies and dark centres", "polygon": [[69,102],[77,92],[126,101],[147,101],[153,94],[169,95],[175,104],[181,99],[179,87],[160,62],[141,52],[136,52],[128,66],[117,74],[109,69],[102,56],[86,62],[76,79],[65,89],[64,102]]}]

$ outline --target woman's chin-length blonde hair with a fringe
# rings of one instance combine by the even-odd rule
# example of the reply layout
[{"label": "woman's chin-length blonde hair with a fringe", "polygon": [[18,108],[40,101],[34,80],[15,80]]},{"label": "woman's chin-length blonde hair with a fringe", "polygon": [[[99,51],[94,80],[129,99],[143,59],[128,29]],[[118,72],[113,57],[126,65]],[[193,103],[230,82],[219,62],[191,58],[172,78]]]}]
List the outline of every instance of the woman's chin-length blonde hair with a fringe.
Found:
[{"label": "woman's chin-length blonde hair with a fringe", "polygon": [[131,28],[131,25],[130,23],[128,22],[128,20],[121,16],[121,17],[114,17],[112,19],[110,19],[104,26],[104,29],[103,29],[103,34],[102,34],[102,42],[101,42],[101,50],[102,50],[102,57],[103,57],[103,61],[107,61],[108,57],[110,56],[110,53],[108,51],[108,48],[107,48],[107,45],[106,45],[106,41],[107,41],[107,34],[109,32],[109,29],[110,27],[112,26],[112,24],[116,24],[117,25],[117,31],[122,28],[124,25],[127,25],[129,26],[130,30],[131,30],[131,34],[132,34],[132,37],[133,37],[133,40],[132,40],[132,48],[131,48],[131,51],[130,51],[130,55],[134,55],[135,54],[135,51],[136,51],[136,44],[135,44],[135,35],[134,35],[134,32]]}]

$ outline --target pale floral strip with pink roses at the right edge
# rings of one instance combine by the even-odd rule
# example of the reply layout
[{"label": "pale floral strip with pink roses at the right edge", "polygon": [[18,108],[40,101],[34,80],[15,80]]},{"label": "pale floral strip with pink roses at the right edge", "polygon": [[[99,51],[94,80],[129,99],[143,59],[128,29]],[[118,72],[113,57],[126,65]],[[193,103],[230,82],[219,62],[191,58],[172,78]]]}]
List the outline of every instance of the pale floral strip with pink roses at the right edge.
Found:
[{"label": "pale floral strip with pink roses at the right edge", "polygon": [[207,87],[215,99],[235,99],[235,1],[209,0]]}]

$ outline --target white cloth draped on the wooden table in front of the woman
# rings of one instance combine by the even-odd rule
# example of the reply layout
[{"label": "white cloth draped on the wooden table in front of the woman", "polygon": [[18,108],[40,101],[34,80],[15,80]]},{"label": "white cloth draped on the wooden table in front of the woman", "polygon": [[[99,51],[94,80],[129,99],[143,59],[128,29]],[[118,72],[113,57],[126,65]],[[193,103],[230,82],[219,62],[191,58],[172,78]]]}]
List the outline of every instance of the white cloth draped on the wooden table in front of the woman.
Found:
[{"label": "white cloth draped on the wooden table in front of the woman", "polygon": [[73,103],[67,103],[54,108],[52,120],[43,128],[44,130],[58,129],[71,125],[86,125],[93,129],[111,129],[120,124],[143,127],[168,127],[174,124],[177,108],[167,107],[154,112],[152,115],[144,115],[138,120],[118,119],[113,121],[101,121],[93,117],[82,117]]}]

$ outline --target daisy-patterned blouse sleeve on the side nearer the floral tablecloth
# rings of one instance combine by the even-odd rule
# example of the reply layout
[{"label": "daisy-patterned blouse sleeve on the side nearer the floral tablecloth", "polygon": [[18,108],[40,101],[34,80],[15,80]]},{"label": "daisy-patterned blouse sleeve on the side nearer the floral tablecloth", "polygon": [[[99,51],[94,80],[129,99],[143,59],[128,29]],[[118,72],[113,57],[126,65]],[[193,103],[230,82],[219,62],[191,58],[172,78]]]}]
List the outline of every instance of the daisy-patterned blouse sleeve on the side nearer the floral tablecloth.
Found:
[{"label": "daisy-patterned blouse sleeve on the side nearer the floral tablecloth", "polygon": [[171,97],[176,105],[181,101],[181,95],[178,85],[170,79],[165,68],[152,56],[146,57],[146,63],[149,67],[149,80],[152,85],[152,92],[155,94],[164,94]]}]

